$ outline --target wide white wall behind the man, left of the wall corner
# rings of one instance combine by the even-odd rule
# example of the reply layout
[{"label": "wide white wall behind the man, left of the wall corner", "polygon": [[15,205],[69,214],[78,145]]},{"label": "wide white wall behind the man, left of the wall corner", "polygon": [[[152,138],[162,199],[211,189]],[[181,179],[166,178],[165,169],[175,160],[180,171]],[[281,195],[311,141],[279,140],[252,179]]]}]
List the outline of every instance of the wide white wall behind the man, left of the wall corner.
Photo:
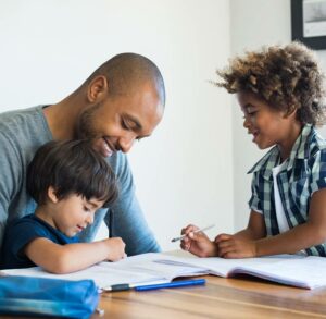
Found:
[{"label": "wide white wall behind the man, left of the wall corner", "polygon": [[116,53],[149,57],[167,105],[130,154],[147,220],[164,249],[190,221],[233,231],[230,102],[208,83],[229,56],[227,0],[0,3],[0,111],[57,102]]}]

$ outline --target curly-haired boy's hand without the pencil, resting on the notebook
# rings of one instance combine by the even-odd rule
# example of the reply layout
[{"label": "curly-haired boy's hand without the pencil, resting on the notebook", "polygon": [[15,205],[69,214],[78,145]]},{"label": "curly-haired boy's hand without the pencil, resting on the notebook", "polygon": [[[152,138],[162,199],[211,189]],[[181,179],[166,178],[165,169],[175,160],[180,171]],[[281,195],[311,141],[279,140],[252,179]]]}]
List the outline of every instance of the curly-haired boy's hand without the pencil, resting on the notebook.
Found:
[{"label": "curly-haired boy's hand without the pencil, resting on the notebook", "polygon": [[223,258],[249,258],[256,257],[256,244],[254,241],[240,240],[234,235],[220,234],[214,242],[217,245],[218,257]]}]

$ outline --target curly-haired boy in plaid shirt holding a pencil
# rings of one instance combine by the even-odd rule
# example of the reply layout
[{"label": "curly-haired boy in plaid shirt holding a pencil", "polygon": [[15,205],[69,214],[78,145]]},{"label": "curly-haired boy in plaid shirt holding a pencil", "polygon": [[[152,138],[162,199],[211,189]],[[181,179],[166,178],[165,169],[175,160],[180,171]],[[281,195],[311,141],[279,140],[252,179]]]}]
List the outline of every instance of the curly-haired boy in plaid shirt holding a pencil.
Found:
[{"label": "curly-haired boy in plaid shirt holding a pencil", "polygon": [[314,128],[325,119],[324,75],[314,53],[299,42],[269,47],[217,74],[216,85],[237,94],[252,142],[273,148],[250,170],[247,229],[211,242],[188,225],[181,248],[201,257],[326,256],[326,142]]}]

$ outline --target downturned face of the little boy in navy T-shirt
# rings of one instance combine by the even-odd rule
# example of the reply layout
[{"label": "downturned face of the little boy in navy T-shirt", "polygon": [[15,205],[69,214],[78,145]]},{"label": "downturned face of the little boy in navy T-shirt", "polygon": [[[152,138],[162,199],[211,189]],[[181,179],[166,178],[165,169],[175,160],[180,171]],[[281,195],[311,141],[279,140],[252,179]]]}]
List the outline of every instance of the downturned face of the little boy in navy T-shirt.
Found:
[{"label": "downturned face of the little boy in navy T-shirt", "polygon": [[80,195],[71,195],[52,204],[51,224],[68,237],[75,236],[93,222],[97,209],[103,201]]}]

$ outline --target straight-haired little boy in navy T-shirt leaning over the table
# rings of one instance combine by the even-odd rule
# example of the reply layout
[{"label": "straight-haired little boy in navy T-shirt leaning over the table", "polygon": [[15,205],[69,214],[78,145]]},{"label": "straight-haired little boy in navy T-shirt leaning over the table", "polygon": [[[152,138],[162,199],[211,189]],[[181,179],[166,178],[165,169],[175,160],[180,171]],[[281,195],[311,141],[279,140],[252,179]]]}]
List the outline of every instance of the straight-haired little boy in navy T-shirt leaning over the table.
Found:
[{"label": "straight-haired little boy in navy T-shirt leaning over the table", "polygon": [[97,209],[117,196],[115,176],[86,140],[50,142],[38,149],[27,172],[35,213],[5,231],[1,267],[40,266],[68,273],[125,256],[120,237],[78,243],[76,234],[93,222]]}]

